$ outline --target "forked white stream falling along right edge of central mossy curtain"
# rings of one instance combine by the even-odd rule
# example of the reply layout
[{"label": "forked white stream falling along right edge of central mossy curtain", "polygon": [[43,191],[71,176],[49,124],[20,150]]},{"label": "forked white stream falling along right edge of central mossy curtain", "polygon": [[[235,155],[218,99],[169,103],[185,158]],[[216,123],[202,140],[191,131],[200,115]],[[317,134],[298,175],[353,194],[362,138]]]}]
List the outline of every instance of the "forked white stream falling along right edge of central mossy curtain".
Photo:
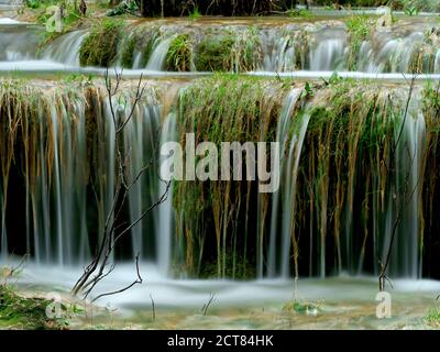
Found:
[{"label": "forked white stream falling along right edge of central mossy curtain", "polygon": [[[294,110],[301,91],[299,88],[293,89],[285,98],[276,132],[276,141],[280,144],[282,179],[280,189],[273,196],[274,200],[271,210],[268,277],[274,277],[277,274],[277,266],[282,277],[288,277],[290,274],[290,243],[294,235],[293,219],[296,211],[296,180],[302,143],[310,120],[308,114],[294,117]],[[290,136],[293,127],[295,130]],[[279,213],[279,205],[282,205],[282,213]],[[278,229],[278,223],[282,224],[280,229]],[[278,265],[277,260],[280,261]]]}]

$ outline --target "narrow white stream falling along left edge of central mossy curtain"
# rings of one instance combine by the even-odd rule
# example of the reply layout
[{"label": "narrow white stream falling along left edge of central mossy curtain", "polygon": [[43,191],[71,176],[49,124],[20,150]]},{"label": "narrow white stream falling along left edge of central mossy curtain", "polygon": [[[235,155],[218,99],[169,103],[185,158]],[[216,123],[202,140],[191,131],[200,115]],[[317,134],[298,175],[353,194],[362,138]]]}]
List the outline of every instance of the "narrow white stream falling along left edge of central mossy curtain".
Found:
[{"label": "narrow white stream falling along left edge of central mossy curtain", "polygon": [[[177,117],[174,112],[169,113],[163,122],[161,131],[161,144],[176,142],[177,140]],[[160,162],[165,156],[160,157]],[[165,195],[167,183],[160,180],[158,197]],[[174,237],[174,208],[173,208],[173,185],[168,189],[165,201],[158,207],[158,221],[156,231],[157,243],[157,264],[161,274],[167,275],[172,264],[172,239]]]}]

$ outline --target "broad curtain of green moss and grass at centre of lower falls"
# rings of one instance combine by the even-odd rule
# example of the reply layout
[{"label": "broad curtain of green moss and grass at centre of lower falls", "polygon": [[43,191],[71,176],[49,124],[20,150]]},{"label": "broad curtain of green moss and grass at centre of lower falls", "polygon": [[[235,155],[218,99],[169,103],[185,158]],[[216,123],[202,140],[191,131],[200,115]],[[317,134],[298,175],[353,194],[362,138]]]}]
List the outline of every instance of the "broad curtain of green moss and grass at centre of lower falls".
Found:
[{"label": "broad curtain of green moss and grass at centre of lower falls", "polygon": [[[179,141],[185,145],[185,135],[189,132],[195,133],[196,144],[272,141],[287,89],[276,80],[233,75],[196,80],[180,95]],[[179,223],[176,230],[182,239],[186,272],[238,278],[253,274],[249,272],[255,262],[248,252],[248,223],[239,221],[241,213],[255,216],[249,200],[250,187],[251,183],[240,182],[175,183],[174,205]],[[267,204],[268,197],[262,196],[261,201]],[[265,220],[266,217],[261,219],[261,223]],[[212,258],[217,271],[212,265],[205,267]]]}]

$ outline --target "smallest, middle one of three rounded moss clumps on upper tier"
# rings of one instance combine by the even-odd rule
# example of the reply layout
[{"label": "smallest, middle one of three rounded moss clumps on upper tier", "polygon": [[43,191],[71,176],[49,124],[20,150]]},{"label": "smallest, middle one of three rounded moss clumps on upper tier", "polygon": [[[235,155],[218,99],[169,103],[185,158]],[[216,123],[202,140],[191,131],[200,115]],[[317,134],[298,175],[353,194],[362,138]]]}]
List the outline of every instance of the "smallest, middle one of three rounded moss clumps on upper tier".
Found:
[{"label": "smallest, middle one of three rounded moss clumps on upper tier", "polygon": [[193,42],[188,34],[176,36],[166,55],[166,69],[173,72],[189,72],[193,62]]}]

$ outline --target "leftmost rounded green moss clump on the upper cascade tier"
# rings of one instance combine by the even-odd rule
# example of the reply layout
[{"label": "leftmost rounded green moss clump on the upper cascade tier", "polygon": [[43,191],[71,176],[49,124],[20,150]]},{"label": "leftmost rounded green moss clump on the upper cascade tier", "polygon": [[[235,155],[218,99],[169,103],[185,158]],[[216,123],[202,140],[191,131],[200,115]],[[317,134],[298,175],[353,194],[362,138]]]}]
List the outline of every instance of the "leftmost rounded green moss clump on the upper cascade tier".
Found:
[{"label": "leftmost rounded green moss clump on the upper cascade tier", "polygon": [[91,28],[79,50],[81,66],[110,66],[118,54],[122,22],[103,20]]}]

